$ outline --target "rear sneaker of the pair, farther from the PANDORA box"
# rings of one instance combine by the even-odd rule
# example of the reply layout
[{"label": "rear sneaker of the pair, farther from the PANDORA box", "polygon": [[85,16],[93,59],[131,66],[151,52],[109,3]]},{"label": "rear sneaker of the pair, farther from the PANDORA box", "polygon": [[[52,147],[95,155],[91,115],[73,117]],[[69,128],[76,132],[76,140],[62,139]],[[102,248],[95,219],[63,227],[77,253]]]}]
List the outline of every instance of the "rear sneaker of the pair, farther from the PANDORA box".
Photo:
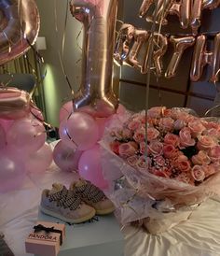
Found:
[{"label": "rear sneaker of the pair, farther from the PANDORA box", "polygon": [[70,191],[76,192],[81,200],[87,205],[92,206],[98,215],[106,215],[115,210],[113,203],[104,193],[91,184],[88,180],[80,178],[70,185]]}]

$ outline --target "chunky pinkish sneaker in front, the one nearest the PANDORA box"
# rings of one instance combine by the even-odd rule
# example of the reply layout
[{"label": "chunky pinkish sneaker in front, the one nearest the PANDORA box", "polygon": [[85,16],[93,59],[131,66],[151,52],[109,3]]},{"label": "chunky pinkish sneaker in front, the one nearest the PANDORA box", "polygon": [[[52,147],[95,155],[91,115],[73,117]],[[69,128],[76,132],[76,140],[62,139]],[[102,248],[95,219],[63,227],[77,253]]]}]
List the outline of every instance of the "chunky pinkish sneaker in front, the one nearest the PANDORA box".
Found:
[{"label": "chunky pinkish sneaker in front, the one nearest the PANDORA box", "polygon": [[68,191],[62,184],[53,184],[51,190],[44,190],[40,209],[43,213],[69,223],[81,223],[94,217],[96,211],[81,201],[80,196]]}]

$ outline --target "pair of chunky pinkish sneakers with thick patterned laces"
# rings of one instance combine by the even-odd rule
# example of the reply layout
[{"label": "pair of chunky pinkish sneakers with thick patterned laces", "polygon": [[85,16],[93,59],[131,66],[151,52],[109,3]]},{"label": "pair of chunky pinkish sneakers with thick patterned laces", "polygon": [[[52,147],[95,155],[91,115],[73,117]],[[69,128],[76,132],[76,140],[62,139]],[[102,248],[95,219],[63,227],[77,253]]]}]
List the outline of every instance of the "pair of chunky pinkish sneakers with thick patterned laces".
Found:
[{"label": "pair of chunky pinkish sneakers with thick patterned laces", "polygon": [[70,223],[90,220],[95,214],[106,215],[115,210],[113,203],[89,181],[79,179],[69,190],[54,183],[51,190],[44,190],[40,203],[47,215]]}]

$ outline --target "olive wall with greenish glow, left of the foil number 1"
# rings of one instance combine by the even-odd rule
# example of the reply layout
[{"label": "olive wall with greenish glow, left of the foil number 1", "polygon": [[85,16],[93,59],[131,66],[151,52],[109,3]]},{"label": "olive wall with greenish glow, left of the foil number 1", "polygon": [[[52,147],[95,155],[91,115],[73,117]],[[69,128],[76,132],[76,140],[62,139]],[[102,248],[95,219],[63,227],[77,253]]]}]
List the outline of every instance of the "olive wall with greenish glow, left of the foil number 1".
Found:
[{"label": "olive wall with greenish glow, left of the foil number 1", "polygon": [[[56,3],[56,7],[55,7]],[[80,58],[81,50],[77,44],[81,44],[82,36],[76,37],[81,30],[81,24],[76,21],[69,11],[69,1],[45,1],[36,0],[40,12],[41,27],[39,36],[45,36],[47,50],[40,51],[45,60],[47,76],[44,79],[44,95],[46,102],[47,121],[54,126],[59,125],[59,111],[63,102],[71,98],[66,78],[62,72],[58,51],[62,52],[62,39],[65,33],[64,60],[66,75],[70,80],[73,90],[76,92],[80,84]],[[68,7],[67,22],[65,27],[65,13]],[[57,11],[57,19],[55,18]],[[56,23],[58,32],[56,32]],[[78,64],[76,64],[76,62]]]}]

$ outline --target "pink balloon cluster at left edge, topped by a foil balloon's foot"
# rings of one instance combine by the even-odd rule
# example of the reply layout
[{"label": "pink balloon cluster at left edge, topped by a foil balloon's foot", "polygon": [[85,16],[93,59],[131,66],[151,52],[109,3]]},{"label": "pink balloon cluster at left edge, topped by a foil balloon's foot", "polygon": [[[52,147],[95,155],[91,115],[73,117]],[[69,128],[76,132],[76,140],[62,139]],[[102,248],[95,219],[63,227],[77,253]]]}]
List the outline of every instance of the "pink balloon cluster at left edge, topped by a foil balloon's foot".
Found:
[{"label": "pink balloon cluster at left edge, topped by a foil balloon's foot", "polygon": [[42,120],[28,92],[0,88],[0,192],[17,188],[26,172],[42,172],[51,164]]}]

